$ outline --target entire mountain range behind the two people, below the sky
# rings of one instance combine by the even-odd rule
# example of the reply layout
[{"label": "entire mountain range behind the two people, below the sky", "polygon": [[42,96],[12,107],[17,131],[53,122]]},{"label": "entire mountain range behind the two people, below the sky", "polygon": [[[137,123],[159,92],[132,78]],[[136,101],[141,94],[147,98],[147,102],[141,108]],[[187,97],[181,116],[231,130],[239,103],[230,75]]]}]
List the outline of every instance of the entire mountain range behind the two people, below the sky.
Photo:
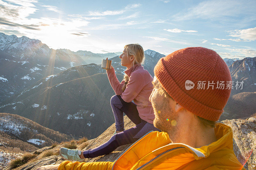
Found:
[{"label": "entire mountain range behind the two people, below the sky", "polygon": [[[143,66],[154,77],[153,69],[165,55],[150,49],[144,54]],[[106,71],[98,65],[106,57],[121,81],[125,67],[116,53],[54,50],[39,40],[0,33],[0,113],[21,115],[75,138],[97,137],[114,122],[110,98],[115,93]],[[252,100],[255,60],[224,59],[227,65],[233,62],[229,65],[232,80],[244,81],[244,85],[232,89],[221,120],[256,113],[256,101]]]}]

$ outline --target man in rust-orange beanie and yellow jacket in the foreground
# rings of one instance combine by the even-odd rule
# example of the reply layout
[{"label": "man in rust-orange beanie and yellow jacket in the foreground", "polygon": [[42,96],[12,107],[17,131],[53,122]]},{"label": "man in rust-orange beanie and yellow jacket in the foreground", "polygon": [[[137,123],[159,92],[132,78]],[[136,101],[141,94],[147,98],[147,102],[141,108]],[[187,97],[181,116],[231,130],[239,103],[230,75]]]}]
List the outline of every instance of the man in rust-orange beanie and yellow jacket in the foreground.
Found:
[{"label": "man in rust-orange beanie and yellow jacket in the foreground", "polygon": [[232,129],[216,123],[232,79],[213,50],[184,48],[161,58],[154,69],[154,126],[115,162],[69,162],[42,169],[244,169],[233,151]]}]

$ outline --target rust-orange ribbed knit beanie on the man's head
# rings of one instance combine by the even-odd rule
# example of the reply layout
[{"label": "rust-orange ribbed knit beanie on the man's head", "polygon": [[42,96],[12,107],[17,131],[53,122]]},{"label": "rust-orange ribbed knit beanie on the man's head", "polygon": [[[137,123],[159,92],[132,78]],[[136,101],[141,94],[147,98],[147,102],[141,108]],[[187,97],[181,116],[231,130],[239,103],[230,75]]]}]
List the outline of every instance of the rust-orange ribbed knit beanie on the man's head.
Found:
[{"label": "rust-orange ribbed knit beanie on the man's head", "polygon": [[231,92],[226,85],[232,79],[227,64],[215,51],[203,47],[177,50],[161,58],[154,73],[180,106],[204,119],[219,120]]}]

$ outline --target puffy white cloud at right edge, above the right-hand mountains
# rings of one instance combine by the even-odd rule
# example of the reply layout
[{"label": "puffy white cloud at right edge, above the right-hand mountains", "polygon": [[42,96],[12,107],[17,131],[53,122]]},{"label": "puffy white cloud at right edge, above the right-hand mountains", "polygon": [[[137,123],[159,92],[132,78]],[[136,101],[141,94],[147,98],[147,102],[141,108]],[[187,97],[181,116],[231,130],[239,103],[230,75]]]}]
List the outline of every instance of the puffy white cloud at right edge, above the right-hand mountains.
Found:
[{"label": "puffy white cloud at right edge, above the right-hand mountains", "polygon": [[243,30],[232,30],[229,31],[229,36],[253,41],[256,40],[256,27]]}]

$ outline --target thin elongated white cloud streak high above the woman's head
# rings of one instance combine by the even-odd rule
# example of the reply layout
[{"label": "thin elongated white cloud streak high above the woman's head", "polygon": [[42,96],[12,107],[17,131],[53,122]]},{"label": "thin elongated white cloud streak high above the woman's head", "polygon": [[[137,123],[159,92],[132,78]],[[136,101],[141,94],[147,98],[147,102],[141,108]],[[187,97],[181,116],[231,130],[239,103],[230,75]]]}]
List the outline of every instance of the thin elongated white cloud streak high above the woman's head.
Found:
[{"label": "thin elongated white cloud streak high above the woman's head", "polygon": [[141,4],[127,5],[125,7],[125,10],[119,10],[119,11],[110,11],[110,10],[101,11],[101,12],[100,11],[89,11],[89,15],[91,15],[91,16],[120,15],[120,14],[123,14],[124,12],[126,12],[126,11],[129,11],[132,8],[138,8],[140,6],[141,6]]}]

